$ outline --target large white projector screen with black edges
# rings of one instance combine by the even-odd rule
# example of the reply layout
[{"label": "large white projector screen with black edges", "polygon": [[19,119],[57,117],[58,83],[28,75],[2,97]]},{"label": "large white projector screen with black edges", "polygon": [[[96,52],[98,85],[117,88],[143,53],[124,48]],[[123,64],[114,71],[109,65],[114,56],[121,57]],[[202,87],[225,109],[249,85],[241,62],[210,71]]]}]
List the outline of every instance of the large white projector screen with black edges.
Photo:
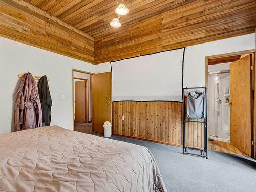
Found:
[{"label": "large white projector screen with black edges", "polygon": [[182,102],[183,51],[111,62],[112,101]]}]

